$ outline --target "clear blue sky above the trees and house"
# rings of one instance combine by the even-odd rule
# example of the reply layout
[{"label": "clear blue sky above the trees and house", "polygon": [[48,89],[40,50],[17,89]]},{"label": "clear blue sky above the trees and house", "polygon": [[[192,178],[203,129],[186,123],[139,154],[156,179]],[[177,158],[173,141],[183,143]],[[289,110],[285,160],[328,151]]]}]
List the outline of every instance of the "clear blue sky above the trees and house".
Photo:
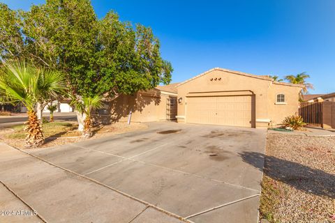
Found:
[{"label": "clear blue sky above the trees and house", "polygon": [[[0,0],[28,10],[42,0]],[[92,0],[98,17],[151,26],[181,82],[214,67],[254,75],[306,71],[311,93],[335,92],[334,0]]]}]

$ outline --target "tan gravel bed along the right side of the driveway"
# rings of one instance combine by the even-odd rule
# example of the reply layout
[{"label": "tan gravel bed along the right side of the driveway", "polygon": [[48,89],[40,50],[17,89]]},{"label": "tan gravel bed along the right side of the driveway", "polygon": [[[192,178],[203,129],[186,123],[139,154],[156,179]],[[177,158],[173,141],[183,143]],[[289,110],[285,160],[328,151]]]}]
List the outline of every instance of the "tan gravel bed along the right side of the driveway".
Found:
[{"label": "tan gravel bed along the right side of the driveway", "polygon": [[335,222],[335,137],[267,134],[260,219]]}]

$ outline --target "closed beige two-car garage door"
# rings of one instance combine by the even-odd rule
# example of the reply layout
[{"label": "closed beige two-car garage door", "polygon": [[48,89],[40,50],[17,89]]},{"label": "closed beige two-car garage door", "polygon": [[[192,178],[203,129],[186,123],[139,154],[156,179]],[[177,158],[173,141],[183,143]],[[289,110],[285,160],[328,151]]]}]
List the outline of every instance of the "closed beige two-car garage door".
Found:
[{"label": "closed beige two-car garage door", "polygon": [[252,127],[251,95],[188,97],[186,122]]}]

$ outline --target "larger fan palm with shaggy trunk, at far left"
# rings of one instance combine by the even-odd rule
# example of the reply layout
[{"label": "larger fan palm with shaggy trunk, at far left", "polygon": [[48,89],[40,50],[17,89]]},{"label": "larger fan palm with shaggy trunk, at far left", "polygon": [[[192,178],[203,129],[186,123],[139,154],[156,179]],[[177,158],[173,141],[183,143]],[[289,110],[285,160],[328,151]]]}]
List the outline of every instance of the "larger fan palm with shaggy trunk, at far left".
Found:
[{"label": "larger fan palm with shaggy trunk, at far left", "polygon": [[36,116],[36,104],[45,95],[57,96],[66,88],[63,75],[31,66],[24,61],[5,61],[0,70],[0,92],[8,102],[22,102],[27,107],[27,146],[44,142],[42,123]]}]

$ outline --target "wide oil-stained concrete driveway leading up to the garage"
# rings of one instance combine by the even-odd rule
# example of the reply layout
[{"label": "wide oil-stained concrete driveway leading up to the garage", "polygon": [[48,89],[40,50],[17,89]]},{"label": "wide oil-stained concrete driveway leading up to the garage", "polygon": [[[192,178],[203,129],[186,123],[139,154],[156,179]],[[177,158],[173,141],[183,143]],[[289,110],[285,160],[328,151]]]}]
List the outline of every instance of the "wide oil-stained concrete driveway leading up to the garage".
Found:
[{"label": "wide oil-stained concrete driveway leading up to the garage", "polygon": [[266,130],[148,125],[36,157],[3,148],[1,183],[46,222],[257,222]]}]

